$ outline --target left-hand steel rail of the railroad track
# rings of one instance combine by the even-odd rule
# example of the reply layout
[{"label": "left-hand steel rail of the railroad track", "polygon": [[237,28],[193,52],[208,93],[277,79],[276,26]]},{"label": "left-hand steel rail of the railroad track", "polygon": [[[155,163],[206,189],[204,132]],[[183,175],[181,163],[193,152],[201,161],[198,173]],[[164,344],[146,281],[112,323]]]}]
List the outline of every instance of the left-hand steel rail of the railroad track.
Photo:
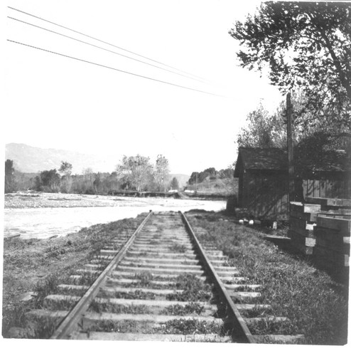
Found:
[{"label": "left-hand steel rail of the railroad track", "polygon": [[85,313],[87,308],[89,308],[89,304],[92,301],[92,299],[95,298],[97,293],[99,292],[99,287],[102,285],[102,283],[105,281],[105,278],[107,275],[112,271],[112,269],[121,261],[121,258],[124,257],[126,254],[126,251],[128,250],[129,246],[133,244],[134,239],[136,236],[139,234],[139,231],[144,227],[146,224],[146,221],[150,219],[150,216],[152,215],[152,211],[148,213],[148,216],[144,219],[144,221],[141,222],[141,224],[138,226],[136,231],[134,231],[134,234],[131,235],[128,241],[124,244],[124,246],[121,248],[121,250],[114,256],[112,261],[107,265],[107,267],[102,271],[102,273],[97,277],[94,283],[92,283],[92,286],[85,292],[85,294],[80,298],[79,302],[75,305],[72,310],[68,313],[68,315],[65,316],[63,321],[58,325],[58,328],[55,330],[53,335],[50,337],[50,339],[65,339],[69,337],[69,334],[72,333],[73,329],[79,322],[80,317],[82,316],[82,313]]}]

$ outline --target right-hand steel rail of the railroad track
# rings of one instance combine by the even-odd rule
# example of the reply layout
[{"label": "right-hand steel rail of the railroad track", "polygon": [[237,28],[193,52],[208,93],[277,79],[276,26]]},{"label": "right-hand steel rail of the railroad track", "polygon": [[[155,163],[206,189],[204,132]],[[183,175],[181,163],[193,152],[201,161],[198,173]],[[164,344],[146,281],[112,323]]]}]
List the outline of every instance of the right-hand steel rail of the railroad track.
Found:
[{"label": "right-hand steel rail of the railroad track", "polygon": [[200,259],[202,260],[202,263],[203,263],[207,273],[212,278],[212,281],[215,283],[217,290],[220,292],[220,295],[222,296],[222,299],[225,300],[225,303],[228,306],[227,311],[231,315],[231,317],[232,317],[231,321],[234,323],[234,325],[236,327],[235,328],[235,332],[236,332],[235,336],[239,338],[239,340],[236,340],[236,341],[255,343],[252,333],[250,333],[249,328],[247,328],[247,324],[245,323],[244,319],[242,318],[242,315],[240,315],[239,310],[233,303],[232,298],[230,298],[230,295],[227,292],[227,289],[225,288],[224,284],[220,280],[220,276],[218,276],[217,272],[215,271],[215,268],[213,268],[212,263],[210,262],[210,259],[207,258],[204,249],[200,245],[200,241],[195,236],[195,233],[189,224],[188,219],[186,219],[186,217],[182,211],[179,211],[179,212],[180,212],[180,215],[182,216],[182,219],[184,221],[186,229],[188,229],[188,231],[189,231],[191,239],[193,239],[193,241],[195,242],[195,247],[198,250]]}]

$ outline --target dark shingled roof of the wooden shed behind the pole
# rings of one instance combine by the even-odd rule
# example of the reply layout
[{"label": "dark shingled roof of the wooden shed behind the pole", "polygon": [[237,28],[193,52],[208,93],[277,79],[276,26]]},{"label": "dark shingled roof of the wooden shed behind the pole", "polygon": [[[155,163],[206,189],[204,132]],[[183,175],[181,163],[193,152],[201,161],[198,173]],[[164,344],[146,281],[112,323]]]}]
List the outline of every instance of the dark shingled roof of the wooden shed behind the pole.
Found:
[{"label": "dark shingled roof of the wooden shed behind the pole", "polygon": [[[301,153],[298,150],[294,152],[296,171],[349,172],[351,170],[351,160],[345,152],[326,151],[317,158],[311,152],[307,155]],[[287,171],[288,152],[275,147],[239,147],[234,177],[239,177],[240,169]]]}]

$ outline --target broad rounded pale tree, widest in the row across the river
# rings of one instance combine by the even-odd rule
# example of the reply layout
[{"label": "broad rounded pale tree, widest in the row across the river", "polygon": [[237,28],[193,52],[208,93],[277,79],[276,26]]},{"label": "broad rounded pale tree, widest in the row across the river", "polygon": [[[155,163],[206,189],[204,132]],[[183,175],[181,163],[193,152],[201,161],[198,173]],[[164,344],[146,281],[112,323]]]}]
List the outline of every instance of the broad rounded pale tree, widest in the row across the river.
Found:
[{"label": "broad rounded pale tree, widest in the row across the river", "polygon": [[146,187],[153,167],[149,157],[141,155],[124,156],[117,166],[117,174],[124,180],[126,187],[134,187],[138,192]]}]

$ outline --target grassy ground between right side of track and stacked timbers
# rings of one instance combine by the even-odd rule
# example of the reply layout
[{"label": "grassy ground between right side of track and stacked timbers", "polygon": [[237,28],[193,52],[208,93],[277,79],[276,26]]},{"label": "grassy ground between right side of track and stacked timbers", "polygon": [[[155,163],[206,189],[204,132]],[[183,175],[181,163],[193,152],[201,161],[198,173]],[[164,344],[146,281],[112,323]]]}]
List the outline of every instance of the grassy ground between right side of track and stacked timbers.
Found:
[{"label": "grassy ground between right side of track and stacked timbers", "polygon": [[[260,302],[270,304],[273,315],[291,320],[291,325],[284,326],[286,333],[303,334],[304,342],[311,345],[345,345],[348,286],[315,269],[306,258],[264,241],[260,231],[222,217],[218,213],[205,213],[202,219],[188,215],[190,224],[202,231],[200,241],[214,243],[248,283],[262,285]],[[274,331],[276,326],[266,325],[269,328]],[[263,330],[264,325],[259,325],[256,331],[266,333]]]}]

